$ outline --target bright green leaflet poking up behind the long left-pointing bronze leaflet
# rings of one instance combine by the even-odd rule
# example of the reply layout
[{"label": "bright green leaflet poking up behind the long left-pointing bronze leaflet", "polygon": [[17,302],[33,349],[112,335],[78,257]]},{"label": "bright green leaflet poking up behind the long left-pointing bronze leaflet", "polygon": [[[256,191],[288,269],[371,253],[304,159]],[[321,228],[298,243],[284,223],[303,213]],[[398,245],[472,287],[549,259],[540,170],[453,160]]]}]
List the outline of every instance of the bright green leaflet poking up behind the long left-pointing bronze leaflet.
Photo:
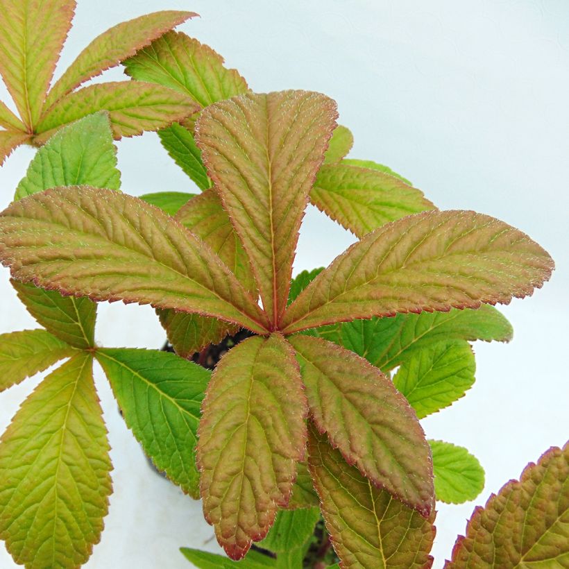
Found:
[{"label": "bright green leaflet poking up behind the long left-pointing bronze leaflet", "polygon": [[112,144],[108,114],[90,114],[62,128],[42,146],[19,182],[19,200],[57,186],[88,184],[119,189],[117,148]]}]

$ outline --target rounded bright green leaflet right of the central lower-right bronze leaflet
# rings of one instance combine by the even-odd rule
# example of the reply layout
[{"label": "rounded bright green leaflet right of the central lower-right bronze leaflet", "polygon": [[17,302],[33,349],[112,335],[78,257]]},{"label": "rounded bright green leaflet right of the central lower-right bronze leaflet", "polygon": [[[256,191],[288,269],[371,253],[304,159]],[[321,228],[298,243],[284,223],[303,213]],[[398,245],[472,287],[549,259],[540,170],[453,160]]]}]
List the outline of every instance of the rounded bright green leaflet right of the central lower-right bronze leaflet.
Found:
[{"label": "rounded bright green leaflet right of the central lower-right bronze leaflet", "polygon": [[474,384],[476,363],[464,340],[439,342],[413,353],[393,377],[418,418],[452,405]]}]

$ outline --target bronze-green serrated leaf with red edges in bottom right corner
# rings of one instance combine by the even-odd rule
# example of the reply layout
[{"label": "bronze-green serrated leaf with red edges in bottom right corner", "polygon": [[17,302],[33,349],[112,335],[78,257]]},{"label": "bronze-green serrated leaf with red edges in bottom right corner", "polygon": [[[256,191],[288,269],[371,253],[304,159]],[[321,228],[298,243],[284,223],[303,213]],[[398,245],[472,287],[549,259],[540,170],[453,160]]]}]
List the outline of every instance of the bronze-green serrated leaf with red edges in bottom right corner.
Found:
[{"label": "bronze-green serrated leaf with red edges in bottom right corner", "polygon": [[476,507],[446,569],[557,568],[569,563],[569,443],[552,447]]}]

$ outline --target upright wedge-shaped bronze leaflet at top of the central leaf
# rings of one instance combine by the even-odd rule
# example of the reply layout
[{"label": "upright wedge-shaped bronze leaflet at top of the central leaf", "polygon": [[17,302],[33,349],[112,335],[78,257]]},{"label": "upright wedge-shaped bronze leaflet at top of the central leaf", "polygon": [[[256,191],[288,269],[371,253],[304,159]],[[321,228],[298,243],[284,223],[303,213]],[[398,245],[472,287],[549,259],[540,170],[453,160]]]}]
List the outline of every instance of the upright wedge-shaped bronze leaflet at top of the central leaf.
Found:
[{"label": "upright wedge-shaped bronze leaflet at top of the central leaf", "polygon": [[287,305],[300,221],[336,118],[332,99],[283,91],[214,103],[198,119],[203,162],[249,255],[273,328]]}]

